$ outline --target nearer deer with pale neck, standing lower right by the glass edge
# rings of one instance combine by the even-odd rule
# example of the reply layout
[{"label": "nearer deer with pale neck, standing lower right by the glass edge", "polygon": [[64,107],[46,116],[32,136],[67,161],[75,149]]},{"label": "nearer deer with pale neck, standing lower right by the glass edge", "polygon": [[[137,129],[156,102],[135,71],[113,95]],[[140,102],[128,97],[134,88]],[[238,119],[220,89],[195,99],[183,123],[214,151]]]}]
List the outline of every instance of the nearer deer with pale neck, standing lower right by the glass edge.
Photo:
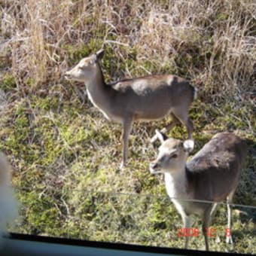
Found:
[{"label": "nearer deer with pale neck, standing lower right by the glass edge", "polygon": [[[194,150],[194,140],[167,139],[156,130],[161,145],[156,160],[149,165],[151,174],[163,173],[167,194],[181,215],[184,230],[192,225],[192,215],[202,218],[206,251],[209,251],[207,230],[221,201],[227,200],[226,242],[233,245],[231,205],[239,184],[247,144],[233,133],[217,133],[187,161]],[[189,236],[185,236],[184,248]]]}]

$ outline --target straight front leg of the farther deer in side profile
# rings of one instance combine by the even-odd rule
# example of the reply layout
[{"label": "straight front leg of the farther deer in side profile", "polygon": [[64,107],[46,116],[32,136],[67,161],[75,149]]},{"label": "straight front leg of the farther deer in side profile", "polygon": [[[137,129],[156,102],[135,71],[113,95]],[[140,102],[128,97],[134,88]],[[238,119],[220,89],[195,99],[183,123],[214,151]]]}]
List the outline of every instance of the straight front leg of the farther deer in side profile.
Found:
[{"label": "straight front leg of the farther deer in side profile", "polygon": [[126,166],[126,161],[128,159],[128,151],[129,151],[129,136],[133,127],[133,119],[129,118],[123,121],[123,132],[122,132],[122,140],[123,140],[123,160],[120,164],[120,169],[123,169]]}]

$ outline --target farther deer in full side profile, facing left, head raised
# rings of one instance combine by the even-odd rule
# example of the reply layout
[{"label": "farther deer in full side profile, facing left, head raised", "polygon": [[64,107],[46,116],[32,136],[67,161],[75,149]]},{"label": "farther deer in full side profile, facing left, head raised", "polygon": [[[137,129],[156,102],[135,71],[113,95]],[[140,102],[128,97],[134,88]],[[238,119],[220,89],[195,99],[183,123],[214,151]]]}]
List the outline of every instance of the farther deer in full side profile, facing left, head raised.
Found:
[{"label": "farther deer in full side profile, facing left, head raised", "polygon": [[[64,76],[69,81],[84,82],[90,102],[107,120],[123,126],[120,169],[126,166],[128,141],[135,121],[160,120],[170,114],[172,121],[161,132],[166,133],[175,124],[183,123],[187,129],[187,137],[192,138],[194,126],[188,117],[188,108],[196,99],[195,87],[175,75],[148,75],[105,84],[99,64],[103,55],[102,49],[81,59]],[[155,139],[156,137],[151,141],[154,142]]]}]

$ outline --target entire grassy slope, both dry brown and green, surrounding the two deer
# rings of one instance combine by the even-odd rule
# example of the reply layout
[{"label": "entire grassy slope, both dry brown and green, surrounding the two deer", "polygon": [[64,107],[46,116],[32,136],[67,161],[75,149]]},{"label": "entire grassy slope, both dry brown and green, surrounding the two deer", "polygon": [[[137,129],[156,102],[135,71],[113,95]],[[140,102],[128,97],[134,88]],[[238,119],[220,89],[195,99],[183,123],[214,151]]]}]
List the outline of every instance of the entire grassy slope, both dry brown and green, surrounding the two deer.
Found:
[{"label": "entire grassy slope, both dry brown and green, surrounding the two deer", "polygon": [[[120,171],[120,126],[90,104],[84,85],[62,79],[69,66],[101,47],[107,81],[175,73],[197,86],[199,99],[190,108],[194,152],[220,131],[251,140],[234,203],[256,206],[254,2],[0,5],[0,150],[13,166],[22,203],[13,230],[183,247],[181,218],[163,178],[148,171],[157,148],[148,140],[169,117],[136,123],[129,165]],[[184,127],[168,135],[184,139]],[[235,209],[233,250],[255,253],[253,209]],[[226,222],[221,206],[212,250],[232,251],[224,244]],[[203,236],[191,239],[190,247],[203,248]]]}]

